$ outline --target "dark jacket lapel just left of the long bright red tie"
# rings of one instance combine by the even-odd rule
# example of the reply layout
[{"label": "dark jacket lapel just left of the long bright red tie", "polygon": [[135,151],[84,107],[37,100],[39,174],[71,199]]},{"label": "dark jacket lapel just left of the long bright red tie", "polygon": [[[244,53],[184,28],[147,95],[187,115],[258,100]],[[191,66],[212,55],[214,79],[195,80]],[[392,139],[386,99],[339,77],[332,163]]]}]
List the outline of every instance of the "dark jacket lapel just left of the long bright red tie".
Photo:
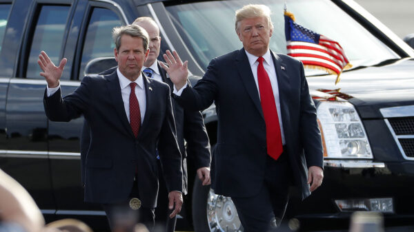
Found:
[{"label": "dark jacket lapel just left of the long bright red tie", "polygon": [[252,98],[253,103],[255,104],[257,110],[260,112],[260,115],[263,116],[262,105],[260,104],[259,92],[257,92],[257,85],[255,83],[255,78],[253,77],[252,69],[250,68],[250,63],[248,63],[246,52],[244,48],[239,50],[239,54],[236,57],[236,65],[239,70],[239,76],[242,78],[244,87],[246,87],[248,95]]}]

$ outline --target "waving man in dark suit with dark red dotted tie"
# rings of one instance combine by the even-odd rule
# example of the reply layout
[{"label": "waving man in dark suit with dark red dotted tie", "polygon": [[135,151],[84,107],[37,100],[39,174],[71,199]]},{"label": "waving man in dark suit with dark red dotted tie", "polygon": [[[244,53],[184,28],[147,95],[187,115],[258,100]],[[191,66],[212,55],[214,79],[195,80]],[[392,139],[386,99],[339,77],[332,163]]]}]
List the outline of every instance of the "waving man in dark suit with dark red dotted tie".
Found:
[{"label": "waving man in dark suit with dark red dotted tie", "polygon": [[[171,215],[181,210],[181,154],[175,135],[170,88],[147,78],[141,67],[148,57],[148,33],[138,25],[114,28],[116,72],[82,79],[61,97],[56,67],[45,52],[39,55],[41,76],[48,87],[44,105],[50,120],[69,121],[81,114],[90,127],[85,157],[85,200],[103,205],[112,231],[135,214],[149,229],[154,225],[158,192],[156,149],[168,186]],[[132,215],[132,217],[131,217]],[[132,228],[128,228],[132,230]]]}]

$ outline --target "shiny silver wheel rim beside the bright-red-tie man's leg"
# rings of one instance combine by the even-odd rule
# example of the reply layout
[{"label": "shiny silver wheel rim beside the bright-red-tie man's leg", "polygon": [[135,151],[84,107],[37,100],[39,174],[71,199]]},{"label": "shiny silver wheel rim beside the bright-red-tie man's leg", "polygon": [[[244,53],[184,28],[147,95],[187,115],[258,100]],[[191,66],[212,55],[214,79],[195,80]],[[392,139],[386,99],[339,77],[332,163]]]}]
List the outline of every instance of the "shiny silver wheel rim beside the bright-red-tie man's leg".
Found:
[{"label": "shiny silver wheel rim beside the bright-red-tie man's leg", "polygon": [[235,204],[229,197],[217,195],[210,189],[207,198],[207,221],[210,231],[242,232]]}]

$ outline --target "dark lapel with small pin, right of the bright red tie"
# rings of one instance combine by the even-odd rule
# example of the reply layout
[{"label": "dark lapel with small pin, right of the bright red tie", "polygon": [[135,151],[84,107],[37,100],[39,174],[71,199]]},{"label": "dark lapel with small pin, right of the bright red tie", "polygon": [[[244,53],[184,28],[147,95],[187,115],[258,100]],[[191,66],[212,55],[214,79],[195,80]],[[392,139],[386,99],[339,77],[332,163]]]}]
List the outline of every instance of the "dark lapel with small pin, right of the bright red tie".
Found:
[{"label": "dark lapel with small pin, right of the bright red tie", "polygon": [[289,120],[288,96],[290,92],[290,77],[288,75],[288,66],[283,63],[282,59],[280,59],[277,54],[271,51],[270,54],[272,54],[273,64],[275,65],[277,85],[279,87],[280,109],[282,111],[280,112],[280,115],[282,115],[282,124],[286,134],[286,130],[288,129],[287,122]]}]

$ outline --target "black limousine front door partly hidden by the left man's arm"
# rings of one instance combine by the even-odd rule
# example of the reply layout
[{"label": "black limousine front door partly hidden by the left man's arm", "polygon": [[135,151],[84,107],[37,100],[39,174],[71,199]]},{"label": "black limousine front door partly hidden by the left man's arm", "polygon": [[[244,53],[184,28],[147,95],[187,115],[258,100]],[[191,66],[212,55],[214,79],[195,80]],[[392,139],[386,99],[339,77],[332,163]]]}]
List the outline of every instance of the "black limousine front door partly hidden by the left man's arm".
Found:
[{"label": "black limousine front door partly hidden by the left man's arm", "polygon": [[[73,92],[84,76],[89,61],[113,57],[112,28],[124,25],[121,8],[99,1],[79,1],[75,10],[64,57],[68,58],[61,81],[62,95]],[[83,202],[79,138],[83,117],[70,123],[49,122],[49,155],[52,185],[59,218],[93,218],[94,228],[106,225],[100,205]],[[103,223],[102,223],[103,222]],[[98,226],[98,227],[97,227]]]}]

